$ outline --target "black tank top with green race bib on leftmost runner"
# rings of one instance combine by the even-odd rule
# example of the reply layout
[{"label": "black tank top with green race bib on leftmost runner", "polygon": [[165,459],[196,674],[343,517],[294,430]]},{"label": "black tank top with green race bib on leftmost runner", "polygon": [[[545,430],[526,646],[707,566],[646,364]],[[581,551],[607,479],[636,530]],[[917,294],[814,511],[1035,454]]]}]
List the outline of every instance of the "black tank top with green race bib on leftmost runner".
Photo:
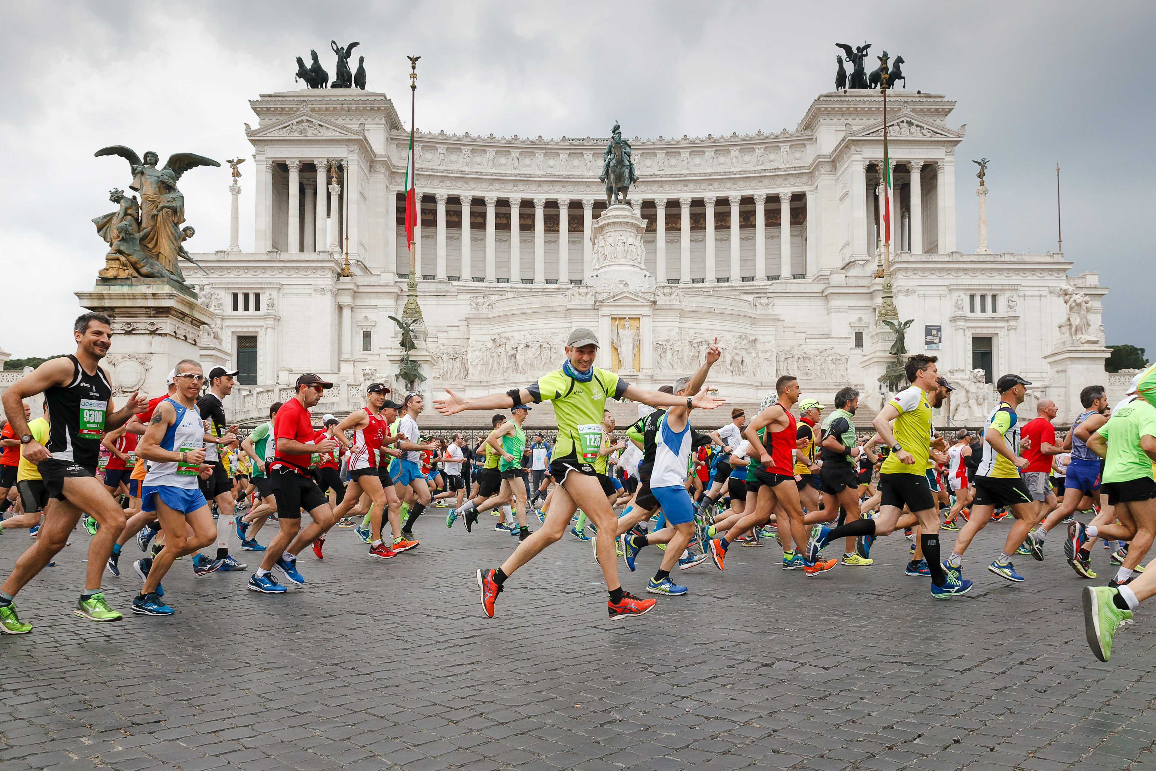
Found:
[{"label": "black tank top with green race bib on leftmost runner", "polygon": [[101,458],[104,417],[112,398],[112,386],[104,370],[89,375],[72,354],[73,377],[66,386],[52,386],[44,392],[49,402],[47,451],[57,460],[71,460],[95,468]]}]

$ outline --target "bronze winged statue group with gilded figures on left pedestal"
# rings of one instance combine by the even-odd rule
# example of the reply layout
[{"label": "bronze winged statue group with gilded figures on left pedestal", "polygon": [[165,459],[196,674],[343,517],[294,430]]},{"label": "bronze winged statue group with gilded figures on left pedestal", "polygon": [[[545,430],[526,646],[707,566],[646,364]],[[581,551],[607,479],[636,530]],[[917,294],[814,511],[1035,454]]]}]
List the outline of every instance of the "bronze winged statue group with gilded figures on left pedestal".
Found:
[{"label": "bronze winged statue group with gilded figures on left pedestal", "polygon": [[[96,151],[96,157],[119,155],[128,161],[133,181],[129,188],[141,194],[126,197],[120,190],[110,193],[117,210],[92,220],[101,237],[109,244],[104,268],[97,275],[104,279],[172,279],[187,284],[178,259],[201,267],[188,257],[184,242],[195,232],[180,225],[185,222],[185,197],[177,188],[177,180],[197,166],[220,166],[213,158],[193,153],[175,153],[163,169],[157,169],[160,156],[153,150],[141,161],[131,148],[113,144]],[[205,270],[205,268],[201,268]]]}]

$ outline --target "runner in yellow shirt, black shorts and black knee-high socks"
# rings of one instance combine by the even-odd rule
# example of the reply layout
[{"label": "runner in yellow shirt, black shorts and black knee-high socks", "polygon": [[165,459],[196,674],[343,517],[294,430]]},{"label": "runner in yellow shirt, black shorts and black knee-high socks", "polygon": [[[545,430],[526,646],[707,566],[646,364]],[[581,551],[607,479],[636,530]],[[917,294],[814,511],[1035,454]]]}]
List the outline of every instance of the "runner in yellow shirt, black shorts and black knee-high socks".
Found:
[{"label": "runner in yellow shirt, black shorts and black knee-high socks", "polygon": [[[919,541],[931,572],[932,596],[939,600],[966,593],[971,581],[964,580],[958,570],[944,571],[940,563],[939,509],[926,475],[931,458],[932,408],[942,403],[949,390],[947,380],[939,377],[936,361],[936,356],[926,354],[911,356],[905,364],[911,386],[889,400],[873,421],[880,437],[891,447],[880,469],[882,502],[879,514],[835,529],[820,526],[807,543],[807,556],[815,559],[820,549],[835,539],[849,535],[874,539],[918,522],[922,527]],[[904,506],[912,516],[903,517]]]}]

